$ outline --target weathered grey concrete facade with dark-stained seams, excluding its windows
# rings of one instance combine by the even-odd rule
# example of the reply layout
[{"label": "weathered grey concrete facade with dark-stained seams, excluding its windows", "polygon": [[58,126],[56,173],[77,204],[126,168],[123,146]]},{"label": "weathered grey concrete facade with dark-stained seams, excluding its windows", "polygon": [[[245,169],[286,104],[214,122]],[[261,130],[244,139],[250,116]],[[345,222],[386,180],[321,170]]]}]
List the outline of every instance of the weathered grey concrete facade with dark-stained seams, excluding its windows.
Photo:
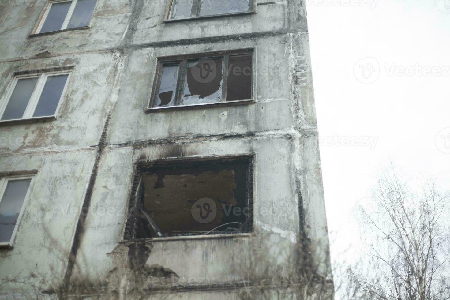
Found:
[{"label": "weathered grey concrete facade with dark-stained seams, excluding its windows", "polygon": [[[46,4],[0,6],[0,96],[14,72],[72,68],[57,118],[0,124],[0,176],[36,174],[0,278],[43,278],[50,296],[90,282],[108,297],[302,299],[274,278],[309,266],[330,289],[305,2],[164,22],[166,0],[98,0],[89,28],[31,35]],[[146,112],[158,58],[248,48],[253,101]],[[254,157],[252,232],[124,242],[137,164],[239,154]],[[0,297],[36,281],[4,280]]]}]

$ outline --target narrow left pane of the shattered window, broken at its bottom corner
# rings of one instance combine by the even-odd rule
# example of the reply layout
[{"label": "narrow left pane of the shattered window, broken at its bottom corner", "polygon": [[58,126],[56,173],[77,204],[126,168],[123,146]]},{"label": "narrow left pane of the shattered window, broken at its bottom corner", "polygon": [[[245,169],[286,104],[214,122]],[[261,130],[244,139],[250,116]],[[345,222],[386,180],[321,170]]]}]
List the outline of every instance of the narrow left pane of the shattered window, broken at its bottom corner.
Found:
[{"label": "narrow left pane of the shattered window, broken at its bottom corner", "polygon": [[180,65],[164,65],[162,67],[161,82],[159,84],[157,107],[173,106],[176,93],[176,82],[178,80],[178,69]]}]

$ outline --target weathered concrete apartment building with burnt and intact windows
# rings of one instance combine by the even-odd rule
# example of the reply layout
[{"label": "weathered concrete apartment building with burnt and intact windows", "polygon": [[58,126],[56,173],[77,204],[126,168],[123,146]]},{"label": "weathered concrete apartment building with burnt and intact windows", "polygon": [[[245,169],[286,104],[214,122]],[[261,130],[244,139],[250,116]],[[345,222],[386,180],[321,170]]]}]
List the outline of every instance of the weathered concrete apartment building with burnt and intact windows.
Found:
[{"label": "weathered concrete apartment building with burnt and intact windows", "polygon": [[0,298],[330,299],[305,6],[0,1]]}]

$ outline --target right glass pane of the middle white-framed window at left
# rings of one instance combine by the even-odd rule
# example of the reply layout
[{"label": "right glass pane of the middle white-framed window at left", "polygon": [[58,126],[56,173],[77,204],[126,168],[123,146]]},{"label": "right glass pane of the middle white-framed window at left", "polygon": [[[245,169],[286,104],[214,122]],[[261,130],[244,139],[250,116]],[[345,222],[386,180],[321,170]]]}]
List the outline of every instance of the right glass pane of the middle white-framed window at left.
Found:
[{"label": "right glass pane of the middle white-framed window at left", "polygon": [[47,77],[33,117],[54,115],[68,76],[68,74],[65,74]]}]

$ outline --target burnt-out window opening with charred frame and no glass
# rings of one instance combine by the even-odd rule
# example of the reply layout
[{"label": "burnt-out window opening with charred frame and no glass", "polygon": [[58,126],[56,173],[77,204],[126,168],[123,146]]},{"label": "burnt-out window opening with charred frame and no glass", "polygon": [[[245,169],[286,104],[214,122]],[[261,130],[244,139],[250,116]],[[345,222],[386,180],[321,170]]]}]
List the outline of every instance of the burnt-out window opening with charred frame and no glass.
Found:
[{"label": "burnt-out window opening with charred frame and no glass", "polygon": [[252,231],[252,157],[142,166],[125,239]]}]

